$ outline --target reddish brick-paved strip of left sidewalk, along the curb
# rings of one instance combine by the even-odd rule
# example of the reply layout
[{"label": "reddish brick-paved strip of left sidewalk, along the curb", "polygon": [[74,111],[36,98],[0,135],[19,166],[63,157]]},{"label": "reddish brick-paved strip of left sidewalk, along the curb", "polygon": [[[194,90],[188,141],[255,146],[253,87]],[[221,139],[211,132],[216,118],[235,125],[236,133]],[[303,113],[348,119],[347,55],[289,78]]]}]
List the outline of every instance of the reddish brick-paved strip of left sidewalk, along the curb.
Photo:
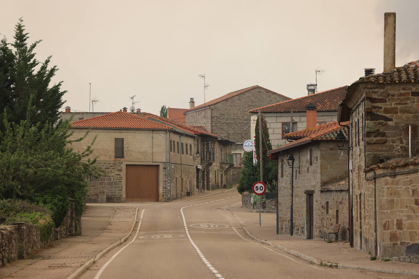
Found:
[{"label": "reddish brick-paved strip of left sidewalk, along the curb", "polygon": [[[100,210],[100,207],[93,206],[91,210]],[[5,278],[67,278],[76,271],[81,271],[90,262],[93,263],[101,251],[107,251],[110,246],[122,243],[129,236],[135,223],[136,212],[137,209],[133,207],[116,207],[111,223],[101,234],[43,257]],[[83,233],[86,232],[82,232],[82,235]]]}]

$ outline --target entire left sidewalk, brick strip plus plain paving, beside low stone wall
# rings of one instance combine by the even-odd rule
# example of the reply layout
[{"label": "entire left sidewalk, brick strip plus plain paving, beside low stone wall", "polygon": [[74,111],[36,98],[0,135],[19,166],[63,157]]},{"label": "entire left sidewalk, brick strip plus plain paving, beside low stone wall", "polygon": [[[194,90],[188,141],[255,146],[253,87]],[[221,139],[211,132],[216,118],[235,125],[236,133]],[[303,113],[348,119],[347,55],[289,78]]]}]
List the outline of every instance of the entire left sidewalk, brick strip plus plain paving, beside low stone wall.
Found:
[{"label": "entire left sidewalk, brick strip plus plain paving, beside low stone wall", "polygon": [[137,208],[87,206],[82,235],[54,241],[36,254],[37,260],[18,260],[0,269],[4,278],[77,278],[107,251],[124,242],[134,227]]}]

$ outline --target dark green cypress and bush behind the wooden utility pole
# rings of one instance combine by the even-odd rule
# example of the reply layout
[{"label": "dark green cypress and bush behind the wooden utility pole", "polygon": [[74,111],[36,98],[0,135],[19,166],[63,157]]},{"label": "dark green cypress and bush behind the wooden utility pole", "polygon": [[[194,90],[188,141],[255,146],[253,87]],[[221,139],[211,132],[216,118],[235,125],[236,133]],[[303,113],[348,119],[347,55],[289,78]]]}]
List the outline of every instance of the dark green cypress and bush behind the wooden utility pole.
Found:
[{"label": "dark green cypress and bush behind the wooden utility pole", "polygon": [[[269,129],[266,124],[265,118],[261,117],[262,125],[262,158],[263,158],[263,182],[266,184],[268,189],[273,189],[273,184],[277,179],[277,165],[275,162],[269,161],[267,151],[272,149],[271,141],[269,139]],[[242,160],[241,177],[238,182],[237,190],[240,194],[244,192],[252,193],[253,183],[261,181],[260,177],[260,158],[259,158],[259,117],[256,120],[255,128],[255,148],[257,164],[253,165],[253,151],[245,152]]]}]

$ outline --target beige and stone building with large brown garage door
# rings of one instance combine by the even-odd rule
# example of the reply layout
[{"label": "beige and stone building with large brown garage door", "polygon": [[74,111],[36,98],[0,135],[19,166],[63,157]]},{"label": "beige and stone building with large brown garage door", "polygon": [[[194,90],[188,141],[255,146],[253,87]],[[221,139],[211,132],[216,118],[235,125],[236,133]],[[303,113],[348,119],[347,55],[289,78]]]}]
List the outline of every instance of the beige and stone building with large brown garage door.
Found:
[{"label": "beige and stone building with large brown garage door", "polygon": [[[75,151],[83,151],[97,136],[90,159],[97,157],[96,165],[107,172],[99,179],[89,177],[87,202],[167,201],[193,195],[202,190],[197,145],[212,141],[231,155],[228,141],[157,115],[124,110],[75,121],[72,127],[72,139],[92,130],[85,140],[72,143]],[[207,165],[212,170],[211,164],[204,169]],[[225,165],[215,164],[217,174],[222,170],[225,179],[231,179],[231,167],[229,172]],[[207,180],[207,188],[215,187],[216,177],[212,185]]]}]

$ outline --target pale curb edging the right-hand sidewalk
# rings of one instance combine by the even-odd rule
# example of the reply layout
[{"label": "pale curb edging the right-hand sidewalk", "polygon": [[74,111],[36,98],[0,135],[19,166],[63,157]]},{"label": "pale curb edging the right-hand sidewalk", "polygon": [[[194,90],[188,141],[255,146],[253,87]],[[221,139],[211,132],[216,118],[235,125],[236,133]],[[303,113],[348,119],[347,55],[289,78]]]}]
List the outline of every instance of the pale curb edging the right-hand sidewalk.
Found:
[{"label": "pale curb edging the right-hand sidewalk", "polygon": [[282,251],[290,253],[291,255],[294,255],[294,256],[297,256],[297,257],[299,257],[301,259],[304,259],[306,261],[312,262],[314,264],[334,267],[334,268],[337,268],[337,269],[361,269],[361,270],[368,270],[368,271],[373,271],[373,272],[383,272],[383,273],[390,273],[390,274],[402,274],[402,275],[419,276],[419,273],[417,273],[415,271],[410,271],[410,270],[382,269],[382,268],[379,268],[379,267],[369,267],[369,266],[349,266],[349,265],[344,265],[344,264],[332,264],[332,263],[323,262],[323,261],[321,261],[322,264],[320,264],[320,262],[313,257],[304,255],[302,253],[298,253],[298,252],[293,251],[293,250],[289,250],[289,249],[287,249],[285,247],[282,247],[282,246],[279,246],[279,245],[274,245],[273,243],[268,242],[268,241],[263,241],[260,238],[254,237],[253,235],[251,235],[251,233],[249,233],[249,231],[245,227],[243,227],[243,230],[253,240],[259,241],[259,242],[267,244],[269,246],[273,246],[273,247],[278,248]]}]

